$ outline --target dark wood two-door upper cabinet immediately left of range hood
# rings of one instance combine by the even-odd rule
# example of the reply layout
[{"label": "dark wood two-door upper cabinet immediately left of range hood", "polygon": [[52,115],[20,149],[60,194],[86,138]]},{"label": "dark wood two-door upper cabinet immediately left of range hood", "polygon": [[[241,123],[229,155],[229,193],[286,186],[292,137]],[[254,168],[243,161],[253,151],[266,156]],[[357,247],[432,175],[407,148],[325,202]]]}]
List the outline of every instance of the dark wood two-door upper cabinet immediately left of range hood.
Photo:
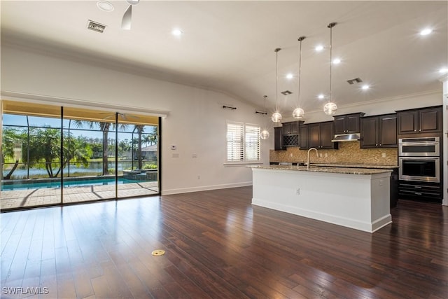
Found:
[{"label": "dark wood two-door upper cabinet immediately left of range hood", "polygon": [[308,148],[337,149],[337,142],[332,142],[335,130],[332,121],[310,123],[308,125]]}]

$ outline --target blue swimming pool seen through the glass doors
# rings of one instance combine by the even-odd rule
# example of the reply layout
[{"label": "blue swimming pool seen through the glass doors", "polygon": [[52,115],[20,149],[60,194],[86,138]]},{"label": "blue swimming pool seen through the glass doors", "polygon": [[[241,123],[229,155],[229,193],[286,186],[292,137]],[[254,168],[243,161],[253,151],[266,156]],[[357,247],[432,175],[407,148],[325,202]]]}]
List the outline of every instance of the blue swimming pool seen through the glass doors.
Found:
[{"label": "blue swimming pool seen through the glass doors", "polygon": [[[118,178],[118,184],[122,183],[142,183],[146,181],[136,181]],[[76,186],[94,186],[94,185],[113,185],[115,184],[115,179],[85,179],[76,181],[66,181],[64,179],[64,188],[66,187],[76,187]],[[36,183],[12,183],[12,184],[1,184],[2,191],[10,190],[29,190],[29,189],[41,189],[41,188],[61,188],[60,181],[46,181],[46,182],[36,182]]]}]

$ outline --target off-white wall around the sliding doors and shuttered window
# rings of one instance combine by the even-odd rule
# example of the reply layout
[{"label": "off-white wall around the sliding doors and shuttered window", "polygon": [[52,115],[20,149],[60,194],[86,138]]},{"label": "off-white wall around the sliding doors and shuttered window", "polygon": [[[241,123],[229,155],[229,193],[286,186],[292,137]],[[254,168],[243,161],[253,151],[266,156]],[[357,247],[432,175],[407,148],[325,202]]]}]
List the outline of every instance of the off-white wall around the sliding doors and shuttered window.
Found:
[{"label": "off-white wall around the sliding doors and shuttered window", "polygon": [[[223,165],[225,122],[268,123],[253,107],[219,92],[5,46],[1,47],[1,90],[62,98],[60,104],[68,98],[87,105],[169,111],[162,120],[162,194],[251,185],[251,169]],[[223,109],[223,104],[237,109]],[[270,131],[272,137],[262,141],[265,164],[269,148],[274,148],[274,131]],[[171,145],[177,146],[176,151]],[[173,153],[179,158],[173,158]]]}]

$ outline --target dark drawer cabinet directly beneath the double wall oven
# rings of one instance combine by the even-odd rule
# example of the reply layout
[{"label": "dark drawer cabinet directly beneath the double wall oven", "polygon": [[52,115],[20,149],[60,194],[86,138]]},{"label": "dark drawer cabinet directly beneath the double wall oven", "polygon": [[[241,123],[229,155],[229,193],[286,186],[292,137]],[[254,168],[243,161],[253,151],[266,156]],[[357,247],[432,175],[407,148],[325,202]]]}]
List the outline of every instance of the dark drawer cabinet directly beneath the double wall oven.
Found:
[{"label": "dark drawer cabinet directly beneath the double wall oven", "polygon": [[422,200],[442,203],[442,184],[400,181],[398,195],[403,200]]}]

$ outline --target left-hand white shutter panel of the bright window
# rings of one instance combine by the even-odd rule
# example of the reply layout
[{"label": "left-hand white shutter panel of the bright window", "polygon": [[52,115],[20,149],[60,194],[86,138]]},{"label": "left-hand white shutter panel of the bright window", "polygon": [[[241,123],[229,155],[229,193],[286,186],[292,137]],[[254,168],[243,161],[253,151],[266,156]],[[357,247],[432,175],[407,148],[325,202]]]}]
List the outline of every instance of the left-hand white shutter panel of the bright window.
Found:
[{"label": "left-hand white shutter panel of the bright window", "polygon": [[244,124],[227,123],[227,160],[244,161]]}]

